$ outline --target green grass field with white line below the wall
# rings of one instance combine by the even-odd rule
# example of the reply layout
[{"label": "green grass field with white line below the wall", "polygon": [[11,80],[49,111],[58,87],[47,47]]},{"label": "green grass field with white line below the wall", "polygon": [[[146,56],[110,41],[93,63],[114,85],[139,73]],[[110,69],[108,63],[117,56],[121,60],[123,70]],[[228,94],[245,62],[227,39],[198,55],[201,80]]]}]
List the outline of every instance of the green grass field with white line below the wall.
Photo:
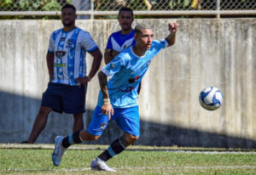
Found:
[{"label": "green grass field with white line below the wall", "polygon": [[118,172],[95,172],[90,162],[105,145],[73,145],[60,167],[53,144],[0,144],[0,174],[256,174],[256,150],[131,146],[108,161]]}]

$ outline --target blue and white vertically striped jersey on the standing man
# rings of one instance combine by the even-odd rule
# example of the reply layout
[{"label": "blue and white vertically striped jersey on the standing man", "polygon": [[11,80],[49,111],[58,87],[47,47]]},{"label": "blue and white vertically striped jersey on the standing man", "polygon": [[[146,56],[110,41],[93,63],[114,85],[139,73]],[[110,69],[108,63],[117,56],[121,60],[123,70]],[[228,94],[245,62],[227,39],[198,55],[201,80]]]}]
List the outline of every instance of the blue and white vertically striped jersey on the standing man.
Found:
[{"label": "blue and white vertically striped jersey on the standing man", "polygon": [[48,53],[55,55],[54,75],[51,82],[76,85],[75,78],[86,75],[86,52],[98,46],[90,33],[75,27],[72,31],[59,29],[49,38]]}]

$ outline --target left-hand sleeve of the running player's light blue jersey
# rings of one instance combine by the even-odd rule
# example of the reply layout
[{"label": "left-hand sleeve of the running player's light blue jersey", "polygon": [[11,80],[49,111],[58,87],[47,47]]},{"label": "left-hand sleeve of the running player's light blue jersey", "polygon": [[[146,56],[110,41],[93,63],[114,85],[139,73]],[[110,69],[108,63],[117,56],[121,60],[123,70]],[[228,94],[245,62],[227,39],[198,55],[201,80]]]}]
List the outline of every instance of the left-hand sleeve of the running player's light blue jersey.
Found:
[{"label": "left-hand sleeve of the running player's light blue jersey", "polygon": [[124,61],[118,56],[114,57],[108,65],[103,67],[102,72],[106,76],[113,76],[115,73],[119,72],[119,70],[124,65]]}]

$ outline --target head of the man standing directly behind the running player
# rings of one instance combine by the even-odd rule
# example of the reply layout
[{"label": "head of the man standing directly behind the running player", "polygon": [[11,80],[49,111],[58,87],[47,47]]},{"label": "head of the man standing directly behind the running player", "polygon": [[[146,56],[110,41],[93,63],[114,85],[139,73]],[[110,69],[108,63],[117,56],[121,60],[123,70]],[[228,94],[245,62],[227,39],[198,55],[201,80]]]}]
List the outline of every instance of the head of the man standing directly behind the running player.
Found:
[{"label": "head of the man standing directly behind the running player", "polygon": [[119,25],[121,26],[122,30],[128,31],[131,29],[131,24],[133,22],[133,16],[129,11],[121,11],[119,14]]}]

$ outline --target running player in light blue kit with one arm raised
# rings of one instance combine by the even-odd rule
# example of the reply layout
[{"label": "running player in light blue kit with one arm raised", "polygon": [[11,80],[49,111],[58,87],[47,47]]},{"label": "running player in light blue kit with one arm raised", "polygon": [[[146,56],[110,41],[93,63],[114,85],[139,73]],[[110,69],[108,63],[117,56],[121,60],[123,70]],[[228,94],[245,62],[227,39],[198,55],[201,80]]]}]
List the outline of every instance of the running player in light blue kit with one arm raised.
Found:
[{"label": "running player in light blue kit with one arm raised", "polygon": [[[109,121],[115,121],[124,131],[98,155],[90,164],[91,169],[115,172],[106,161],[124,151],[140,136],[140,118],[137,104],[137,88],[142,81],[151,60],[161,49],[175,42],[177,23],[169,23],[170,34],[163,40],[153,40],[154,32],[148,25],[139,24],[135,28],[136,45],[118,54],[98,73],[101,91],[87,130],[73,133],[66,138],[58,136],[52,161],[55,166],[61,163],[61,156],[71,144],[101,137]],[[110,77],[108,81],[108,77]]]}]

